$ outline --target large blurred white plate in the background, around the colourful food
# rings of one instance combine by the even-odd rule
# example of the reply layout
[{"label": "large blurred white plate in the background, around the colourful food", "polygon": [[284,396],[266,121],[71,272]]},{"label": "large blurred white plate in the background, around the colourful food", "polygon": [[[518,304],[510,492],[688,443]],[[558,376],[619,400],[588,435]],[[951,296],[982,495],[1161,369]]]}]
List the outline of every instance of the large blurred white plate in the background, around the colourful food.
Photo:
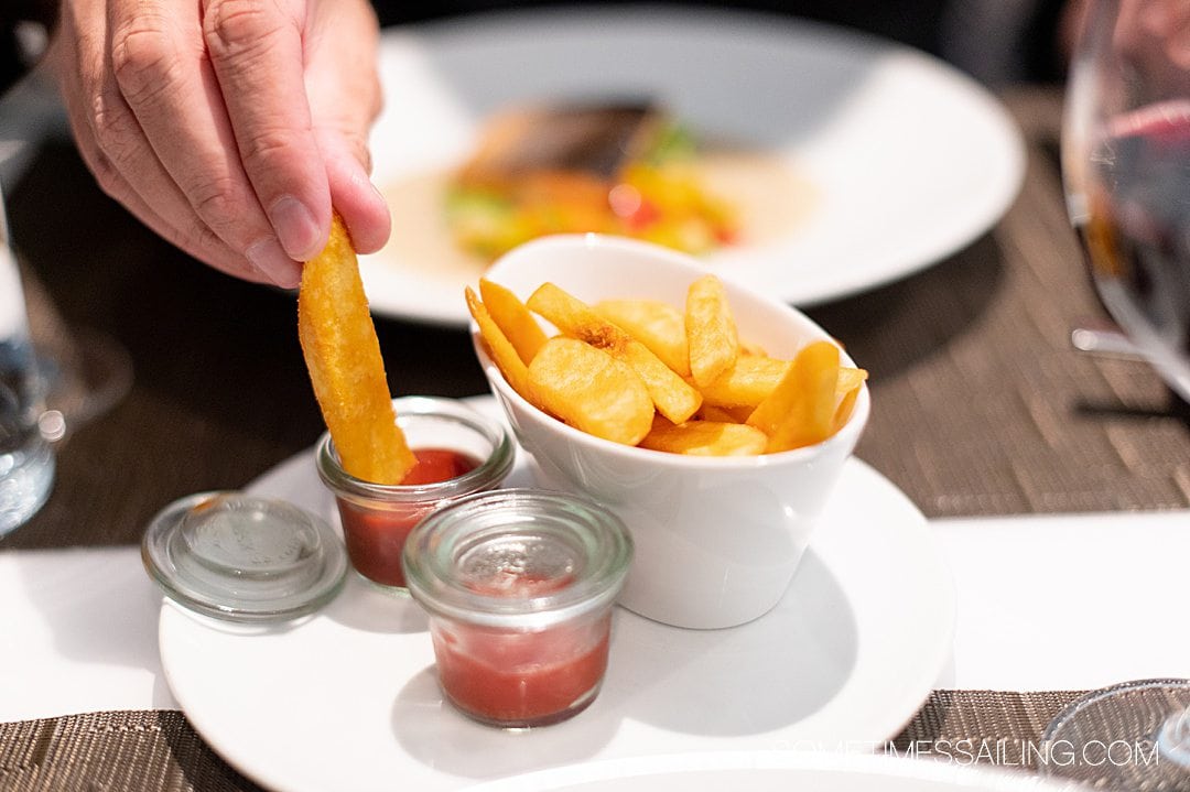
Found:
[{"label": "large blurred white plate in the background, around the colourful food", "polygon": [[484,119],[531,101],[647,96],[699,139],[788,165],[808,195],[788,232],[706,260],[800,306],[941,260],[1003,214],[1025,172],[1017,127],[973,80],[820,24],[722,10],[536,10],[390,29],[381,55],[372,155],[394,232],[362,269],[372,309],[394,318],[464,325],[463,285],[480,271],[443,254],[449,245],[409,241],[443,219],[422,190],[395,186],[463,162]]}]

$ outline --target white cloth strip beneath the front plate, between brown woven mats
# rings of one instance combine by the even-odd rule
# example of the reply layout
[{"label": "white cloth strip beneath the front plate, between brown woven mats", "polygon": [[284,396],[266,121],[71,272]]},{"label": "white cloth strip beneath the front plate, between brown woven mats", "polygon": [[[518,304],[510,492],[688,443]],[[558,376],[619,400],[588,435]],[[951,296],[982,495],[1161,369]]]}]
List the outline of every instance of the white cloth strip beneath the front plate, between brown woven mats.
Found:
[{"label": "white cloth strip beneath the front plate, between brown woven mats", "polygon": [[[1190,511],[932,523],[958,624],[939,687],[1190,677]],[[137,548],[0,553],[0,721],[176,709]]]}]

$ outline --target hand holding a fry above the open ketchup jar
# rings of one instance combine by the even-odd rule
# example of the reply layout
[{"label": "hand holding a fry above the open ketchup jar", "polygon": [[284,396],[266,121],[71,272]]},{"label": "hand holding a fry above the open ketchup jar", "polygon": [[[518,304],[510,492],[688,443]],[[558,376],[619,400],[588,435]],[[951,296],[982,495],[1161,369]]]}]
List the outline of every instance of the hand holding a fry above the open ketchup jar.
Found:
[{"label": "hand holding a fry above the open ketchup jar", "polygon": [[326,244],[388,239],[367,0],[62,0],[49,63],[106,193],[195,258],[283,288]]}]

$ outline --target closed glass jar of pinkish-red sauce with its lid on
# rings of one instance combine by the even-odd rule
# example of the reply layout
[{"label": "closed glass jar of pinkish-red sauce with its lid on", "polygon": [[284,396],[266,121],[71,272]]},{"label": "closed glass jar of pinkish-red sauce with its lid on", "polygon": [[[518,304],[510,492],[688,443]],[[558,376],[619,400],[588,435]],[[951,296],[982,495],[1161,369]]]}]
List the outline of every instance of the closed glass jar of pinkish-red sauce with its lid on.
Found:
[{"label": "closed glass jar of pinkish-red sauce with its lid on", "polygon": [[619,517],[562,492],[497,490],[428,517],[405,547],[445,697],[502,728],[565,721],[599,693],[632,561]]}]

